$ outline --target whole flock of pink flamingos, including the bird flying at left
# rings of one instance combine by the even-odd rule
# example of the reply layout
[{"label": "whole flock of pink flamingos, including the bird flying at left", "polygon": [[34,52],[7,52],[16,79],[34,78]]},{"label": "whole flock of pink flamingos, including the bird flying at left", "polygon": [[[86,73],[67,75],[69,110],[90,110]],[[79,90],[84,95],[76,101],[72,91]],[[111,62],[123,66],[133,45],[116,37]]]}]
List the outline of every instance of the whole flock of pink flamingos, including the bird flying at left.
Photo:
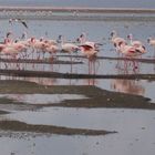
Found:
[{"label": "whole flock of pink flamingos, including the bird flying at left", "polygon": [[[12,24],[13,22],[21,22],[28,29],[28,24],[21,19],[9,20],[9,23]],[[86,33],[80,34],[74,42],[65,41],[63,35],[59,35],[56,40],[44,38],[37,39],[35,37],[27,38],[25,32],[18,40],[13,40],[12,35],[13,32],[8,32],[4,40],[0,43],[1,59],[3,55],[7,59],[14,60],[30,59],[31,55],[32,59],[40,60],[44,59],[44,55],[48,53],[50,55],[49,58],[52,60],[53,55],[56,56],[56,53],[61,51],[69,53],[70,56],[72,56],[73,52],[81,52],[89,61],[92,61],[93,58],[96,58],[100,46],[103,45],[102,43],[89,41]],[[148,38],[147,41],[151,45],[155,46],[155,39]],[[114,44],[116,52],[125,58],[133,59],[146,53],[143,42],[133,40],[132,34],[128,34],[126,40],[118,37],[116,31],[112,31],[111,42]],[[35,58],[33,58],[34,52],[37,52]]]}]

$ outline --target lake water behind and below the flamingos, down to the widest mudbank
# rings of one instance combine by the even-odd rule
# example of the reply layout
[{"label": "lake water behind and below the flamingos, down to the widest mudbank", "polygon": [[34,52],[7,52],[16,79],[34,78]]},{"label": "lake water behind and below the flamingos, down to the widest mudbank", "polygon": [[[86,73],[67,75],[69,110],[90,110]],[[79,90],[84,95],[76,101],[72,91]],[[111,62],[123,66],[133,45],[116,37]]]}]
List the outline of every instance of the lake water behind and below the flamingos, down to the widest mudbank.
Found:
[{"label": "lake water behind and below the flamingos, down to the widest mudbank", "polygon": [[[143,17],[143,14],[142,14]],[[147,18],[146,18],[147,19]],[[149,20],[149,17],[148,17]],[[46,39],[56,39],[58,35],[62,34],[65,40],[74,41],[82,32],[87,34],[87,39],[91,41],[100,42],[103,44],[101,46],[101,51],[99,52],[99,56],[117,56],[113,44],[110,41],[110,33],[113,30],[116,30],[120,37],[126,38],[127,34],[133,33],[134,39],[141,40],[147,53],[143,55],[144,59],[152,59],[154,56],[154,48],[147,43],[147,39],[149,37],[154,37],[154,27],[155,22],[147,20],[145,21],[136,21],[136,20],[37,20],[37,19],[27,19],[27,23],[29,29],[20,23],[9,24],[8,20],[1,19],[1,33],[0,38],[3,40],[6,33],[8,31],[13,32],[13,38],[20,38],[21,34],[27,31],[28,38],[46,38]],[[78,53],[81,54],[81,53]],[[70,61],[70,58],[63,58],[59,54],[59,60]],[[68,55],[68,54],[66,54]],[[89,73],[89,61],[87,59],[74,59],[74,61],[82,61],[82,64],[74,65],[61,65],[61,64],[21,64],[21,69],[25,70],[43,70],[43,71],[54,71],[61,73]],[[127,69],[124,69],[124,61],[116,60],[106,60],[100,59],[94,62],[92,73],[95,74],[130,74],[135,73],[133,71],[132,64],[128,65]],[[118,68],[117,68],[118,66]],[[6,68],[4,64],[1,64],[1,68]],[[10,69],[17,68],[16,65],[11,65]],[[136,73],[155,73],[154,63],[140,63],[138,70]],[[1,79],[7,79],[6,76],[1,76]],[[10,79],[10,78],[9,78]],[[14,79],[14,78],[13,78]],[[19,78],[18,78],[19,79]],[[154,96],[154,82],[153,81],[131,81],[131,80],[64,80],[64,79],[40,79],[40,78],[21,78],[21,80],[29,80],[32,82],[37,82],[40,84],[48,85],[61,85],[61,84],[72,84],[72,85],[89,85],[93,84],[100,86],[102,89],[120,91],[125,93],[133,92],[134,94],[144,95],[146,97],[151,97],[155,101]],[[125,82],[125,84],[124,84]],[[131,91],[132,90],[132,91]]]}]

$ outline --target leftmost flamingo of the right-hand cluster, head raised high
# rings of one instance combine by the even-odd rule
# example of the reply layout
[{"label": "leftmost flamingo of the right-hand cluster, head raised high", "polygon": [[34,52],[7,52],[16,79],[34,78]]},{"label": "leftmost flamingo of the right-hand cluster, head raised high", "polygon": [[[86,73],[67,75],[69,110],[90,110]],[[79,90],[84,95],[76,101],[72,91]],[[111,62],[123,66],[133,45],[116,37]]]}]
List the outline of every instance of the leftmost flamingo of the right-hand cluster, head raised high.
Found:
[{"label": "leftmost flamingo of the right-hand cluster, head raised high", "polygon": [[116,51],[120,52],[120,49],[121,49],[120,45],[121,44],[124,44],[125,45],[126,44],[126,40],[123,39],[123,38],[117,37],[117,33],[116,33],[115,30],[113,30],[111,32],[111,37],[112,37],[112,39],[111,39],[112,43],[114,44]]}]

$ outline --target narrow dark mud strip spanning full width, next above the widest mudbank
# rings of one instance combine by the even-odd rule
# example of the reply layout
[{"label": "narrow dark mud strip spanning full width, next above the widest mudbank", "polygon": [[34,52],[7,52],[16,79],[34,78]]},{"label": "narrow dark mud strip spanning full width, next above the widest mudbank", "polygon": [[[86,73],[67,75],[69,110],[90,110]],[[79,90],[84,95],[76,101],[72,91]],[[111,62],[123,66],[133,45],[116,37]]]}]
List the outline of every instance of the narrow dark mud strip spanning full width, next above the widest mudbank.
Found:
[{"label": "narrow dark mud strip spanning full width, next above the widest mudbank", "polygon": [[25,70],[0,70],[1,75],[11,76],[38,76],[38,78],[59,78],[59,79],[126,79],[126,80],[155,80],[155,74],[79,74],[59,73],[51,71],[25,71]]}]

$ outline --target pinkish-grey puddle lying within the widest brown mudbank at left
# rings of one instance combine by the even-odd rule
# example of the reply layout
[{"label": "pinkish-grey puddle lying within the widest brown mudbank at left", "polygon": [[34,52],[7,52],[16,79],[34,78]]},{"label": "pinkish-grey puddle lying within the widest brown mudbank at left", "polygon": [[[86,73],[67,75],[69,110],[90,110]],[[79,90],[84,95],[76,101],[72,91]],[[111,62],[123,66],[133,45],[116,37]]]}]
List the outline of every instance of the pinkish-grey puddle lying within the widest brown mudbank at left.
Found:
[{"label": "pinkish-grey puddle lying within the widest brown mudbank at left", "polygon": [[50,104],[61,103],[64,100],[83,100],[84,95],[78,94],[0,94],[0,97],[7,97],[17,102],[28,104]]}]

